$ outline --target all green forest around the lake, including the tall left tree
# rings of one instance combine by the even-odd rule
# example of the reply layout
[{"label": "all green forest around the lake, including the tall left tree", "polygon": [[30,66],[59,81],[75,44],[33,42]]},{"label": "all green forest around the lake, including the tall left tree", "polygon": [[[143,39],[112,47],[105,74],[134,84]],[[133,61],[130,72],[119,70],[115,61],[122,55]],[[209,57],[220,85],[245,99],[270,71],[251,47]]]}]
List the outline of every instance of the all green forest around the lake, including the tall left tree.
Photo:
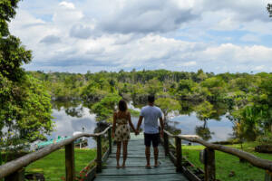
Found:
[{"label": "all green forest around the lake, including the tall left tree", "polygon": [[[156,95],[166,122],[172,112],[195,111],[204,122],[199,129],[203,132],[209,119],[228,114],[235,138],[271,142],[271,73],[24,71],[22,65],[32,61],[32,52],[8,28],[18,2],[3,1],[0,5],[1,147],[44,139],[53,131],[52,105],[80,103],[90,108],[98,121],[112,121],[118,100],[132,101],[137,107],[146,103],[149,94]],[[271,5],[267,9],[271,10]]]}]

